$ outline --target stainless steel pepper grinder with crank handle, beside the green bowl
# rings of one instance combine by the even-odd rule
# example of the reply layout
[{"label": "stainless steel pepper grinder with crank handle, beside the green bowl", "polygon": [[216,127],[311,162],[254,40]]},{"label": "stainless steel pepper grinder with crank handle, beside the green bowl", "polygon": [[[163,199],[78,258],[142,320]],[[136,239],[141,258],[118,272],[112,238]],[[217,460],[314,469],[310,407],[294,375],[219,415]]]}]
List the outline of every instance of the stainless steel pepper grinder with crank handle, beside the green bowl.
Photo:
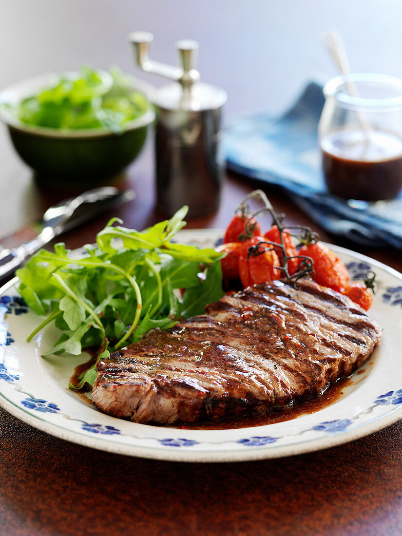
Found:
[{"label": "stainless steel pepper grinder with crank handle, beside the green bowl", "polygon": [[152,98],[157,116],[158,208],[172,215],[188,205],[189,217],[213,212],[220,199],[224,163],[219,153],[221,111],[227,94],[219,87],[199,82],[196,41],[175,43],[178,66],[174,67],[149,58],[151,33],[133,32],[128,39],[136,63],[145,72],[175,80],[155,90]]}]

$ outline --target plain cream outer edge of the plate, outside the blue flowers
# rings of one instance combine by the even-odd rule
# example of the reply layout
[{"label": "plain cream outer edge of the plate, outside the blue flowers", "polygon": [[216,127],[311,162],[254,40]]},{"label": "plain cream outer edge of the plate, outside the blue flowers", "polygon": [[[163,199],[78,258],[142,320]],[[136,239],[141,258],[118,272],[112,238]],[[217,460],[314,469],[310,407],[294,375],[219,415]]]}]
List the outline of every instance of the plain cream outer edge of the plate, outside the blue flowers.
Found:
[{"label": "plain cream outer edge of the plate, outside the blue flowers", "polygon": [[[224,233],[223,229],[217,228],[203,228],[203,229],[183,229],[179,233],[181,234],[201,234],[201,235],[222,235]],[[384,263],[379,262],[376,259],[368,257],[366,255],[360,254],[358,252],[352,251],[350,249],[335,245],[329,244],[330,247],[335,252],[344,253],[349,256],[353,256],[357,260],[362,260],[370,263],[373,266],[377,266],[381,270],[389,273],[391,276],[396,277],[402,282],[402,273],[397,270],[387,266]],[[80,248],[77,248],[78,250]],[[75,251],[75,250],[74,250]],[[6,282],[5,285],[0,287],[0,295],[8,291],[9,288],[16,285],[18,282],[18,277],[14,277],[10,281]],[[113,452],[119,455],[133,456],[147,459],[157,459],[157,460],[166,460],[166,461],[181,461],[181,462],[200,462],[200,463],[221,463],[221,462],[235,462],[235,461],[254,461],[261,459],[275,459],[282,458],[287,456],[295,456],[308,452],[315,452],[319,450],[325,450],[337,446],[340,444],[348,443],[365,437],[374,433],[375,431],[382,430],[394,422],[402,418],[402,406],[395,407],[391,412],[380,416],[370,422],[364,423],[361,426],[355,427],[352,430],[344,430],[338,433],[333,433],[323,438],[312,439],[310,441],[288,444],[288,445],[278,445],[271,446],[260,446],[256,449],[250,450],[222,450],[222,451],[191,451],[191,450],[165,450],[165,449],[153,449],[149,446],[138,446],[138,445],[129,445],[123,443],[115,443],[108,441],[107,437],[91,437],[84,434],[80,434],[77,431],[66,430],[58,426],[53,422],[44,420],[39,415],[32,414],[21,410],[16,404],[6,398],[3,392],[0,392],[0,406],[4,408],[5,411],[15,416],[17,419],[27,423],[29,426],[33,426],[36,429],[39,429],[47,434],[58,437],[62,440],[69,441],[71,443],[76,443],[82,446],[95,448],[97,450]],[[256,427],[258,429],[258,427]]]}]

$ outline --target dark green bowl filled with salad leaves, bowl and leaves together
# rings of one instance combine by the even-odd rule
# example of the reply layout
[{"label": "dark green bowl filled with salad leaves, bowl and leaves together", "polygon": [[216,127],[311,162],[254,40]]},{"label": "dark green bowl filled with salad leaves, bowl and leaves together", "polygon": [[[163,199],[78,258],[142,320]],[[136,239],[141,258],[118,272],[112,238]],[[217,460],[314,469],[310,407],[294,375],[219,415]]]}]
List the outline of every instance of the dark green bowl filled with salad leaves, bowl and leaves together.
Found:
[{"label": "dark green bowl filled with salad leaves, bowl and leaves together", "polygon": [[109,182],[138,155],[155,118],[152,86],[119,69],[25,80],[0,93],[20,157],[54,189]]}]

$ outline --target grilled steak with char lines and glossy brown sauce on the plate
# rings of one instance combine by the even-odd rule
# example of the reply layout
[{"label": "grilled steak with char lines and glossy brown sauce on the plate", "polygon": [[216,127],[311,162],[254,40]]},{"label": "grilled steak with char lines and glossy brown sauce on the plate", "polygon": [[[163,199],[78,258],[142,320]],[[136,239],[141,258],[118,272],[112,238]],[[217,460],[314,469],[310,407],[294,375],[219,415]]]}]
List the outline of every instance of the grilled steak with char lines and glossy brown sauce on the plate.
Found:
[{"label": "grilled steak with char lines and glossy brown sauce on the plate", "polygon": [[222,297],[195,316],[99,361],[92,399],[134,422],[195,422],[263,411],[352,373],[381,328],[314,281],[274,281]]}]

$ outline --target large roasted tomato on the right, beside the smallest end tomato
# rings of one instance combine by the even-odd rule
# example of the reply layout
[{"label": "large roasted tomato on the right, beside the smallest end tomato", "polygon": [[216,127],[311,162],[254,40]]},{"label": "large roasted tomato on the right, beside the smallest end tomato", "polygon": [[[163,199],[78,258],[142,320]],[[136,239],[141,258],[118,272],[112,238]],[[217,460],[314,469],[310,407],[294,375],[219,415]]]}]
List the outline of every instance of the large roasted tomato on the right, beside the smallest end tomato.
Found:
[{"label": "large roasted tomato on the right, beside the smallest end tomato", "polygon": [[[351,278],[346,265],[322,242],[303,245],[299,255],[310,257],[314,263],[313,277],[319,285],[343,292]],[[299,265],[301,260],[299,260]]]}]

